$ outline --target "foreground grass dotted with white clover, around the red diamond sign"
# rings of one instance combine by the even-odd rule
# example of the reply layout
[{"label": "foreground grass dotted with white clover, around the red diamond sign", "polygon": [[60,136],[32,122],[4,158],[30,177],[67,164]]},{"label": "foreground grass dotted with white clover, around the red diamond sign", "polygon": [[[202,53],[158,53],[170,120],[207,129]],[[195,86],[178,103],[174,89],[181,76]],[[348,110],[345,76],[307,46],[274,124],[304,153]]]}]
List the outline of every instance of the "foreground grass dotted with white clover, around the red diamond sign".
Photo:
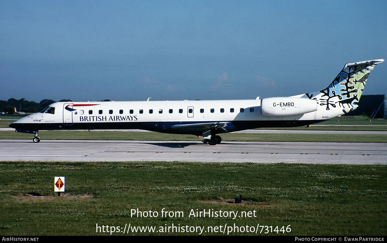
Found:
[{"label": "foreground grass dotted with white clover, around the red diamond sign", "polygon": [[[387,234],[386,166],[2,162],[0,175],[1,235],[108,235],[96,233],[96,224],[156,226],[159,230],[172,223],[204,226],[205,230],[226,224],[291,229],[266,235]],[[55,176],[66,178],[64,197],[53,196]],[[27,195],[31,192],[43,196]],[[243,195],[243,204],[231,203],[236,194]],[[132,216],[131,210],[137,208],[157,211],[159,216]],[[163,208],[181,211],[184,217],[161,217]],[[188,217],[192,209],[246,211],[252,215],[255,211],[255,217]]]}]

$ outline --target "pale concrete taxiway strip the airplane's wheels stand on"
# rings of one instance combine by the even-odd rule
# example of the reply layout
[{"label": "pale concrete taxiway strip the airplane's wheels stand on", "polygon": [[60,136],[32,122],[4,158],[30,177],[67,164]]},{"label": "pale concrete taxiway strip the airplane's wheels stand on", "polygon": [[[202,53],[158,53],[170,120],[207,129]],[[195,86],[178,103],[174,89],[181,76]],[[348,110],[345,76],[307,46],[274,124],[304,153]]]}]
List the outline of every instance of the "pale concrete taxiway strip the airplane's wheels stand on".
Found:
[{"label": "pale concrete taxiway strip the airplane's wheels stand on", "polygon": [[387,164],[386,143],[0,140],[0,161]]}]

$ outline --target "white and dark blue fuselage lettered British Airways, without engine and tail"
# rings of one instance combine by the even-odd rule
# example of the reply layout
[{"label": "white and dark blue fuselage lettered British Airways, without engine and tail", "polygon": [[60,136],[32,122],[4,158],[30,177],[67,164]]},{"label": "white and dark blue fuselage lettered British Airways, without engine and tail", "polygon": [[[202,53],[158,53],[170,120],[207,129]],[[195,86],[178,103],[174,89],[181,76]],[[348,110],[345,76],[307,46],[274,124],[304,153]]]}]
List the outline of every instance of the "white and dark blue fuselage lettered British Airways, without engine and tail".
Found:
[{"label": "white and dark blue fuselage lettered British Airways, without engine and tail", "polygon": [[[329,119],[320,111],[297,116],[265,116],[261,100],[183,100],[128,102],[57,102],[44,113],[24,117],[13,126],[29,130],[145,129],[166,133],[199,134],[198,127],[173,130],[176,124],[230,122],[224,133],[257,127],[297,126]],[[326,113],[326,112],[324,112]],[[286,123],[291,122],[291,123]],[[301,125],[306,124],[301,122]],[[24,124],[24,126],[21,126]],[[19,126],[19,127],[18,127]],[[202,129],[203,131],[205,129]]]}]

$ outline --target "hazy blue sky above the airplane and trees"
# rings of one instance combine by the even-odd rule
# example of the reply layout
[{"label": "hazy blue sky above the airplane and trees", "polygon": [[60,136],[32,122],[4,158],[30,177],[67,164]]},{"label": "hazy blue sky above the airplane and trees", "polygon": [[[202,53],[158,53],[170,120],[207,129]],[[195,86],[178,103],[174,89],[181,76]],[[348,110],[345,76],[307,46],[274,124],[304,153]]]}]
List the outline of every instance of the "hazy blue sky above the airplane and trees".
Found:
[{"label": "hazy blue sky above the airplane and trees", "polygon": [[[255,99],[387,59],[382,1],[0,1],[0,100]],[[387,62],[363,94],[386,94]]]}]

